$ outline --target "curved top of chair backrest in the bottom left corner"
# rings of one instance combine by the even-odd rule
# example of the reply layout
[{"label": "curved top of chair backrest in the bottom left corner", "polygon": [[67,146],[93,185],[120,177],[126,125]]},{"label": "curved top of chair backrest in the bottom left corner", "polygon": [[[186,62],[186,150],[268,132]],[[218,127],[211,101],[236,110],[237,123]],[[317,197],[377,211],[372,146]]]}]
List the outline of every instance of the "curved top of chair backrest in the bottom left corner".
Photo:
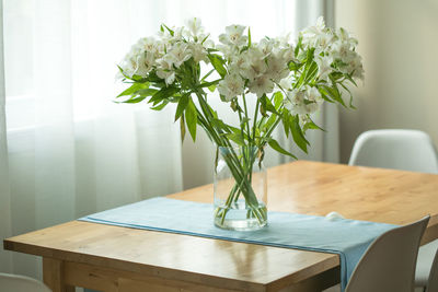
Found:
[{"label": "curved top of chair backrest in the bottom left corner", "polygon": [[51,292],[42,282],[25,276],[0,272],[0,292]]}]

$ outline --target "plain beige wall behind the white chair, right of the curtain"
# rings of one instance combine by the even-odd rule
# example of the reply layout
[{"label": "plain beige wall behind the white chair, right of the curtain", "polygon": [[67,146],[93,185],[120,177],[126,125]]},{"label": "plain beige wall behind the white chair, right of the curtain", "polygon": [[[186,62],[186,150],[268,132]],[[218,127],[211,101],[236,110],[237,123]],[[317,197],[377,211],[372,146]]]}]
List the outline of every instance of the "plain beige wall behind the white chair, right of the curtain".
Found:
[{"label": "plain beige wall behind the white chair, right of the curtain", "polygon": [[378,128],[428,132],[438,145],[438,0],[336,0],[335,23],[359,39],[366,80],[341,113],[341,157]]}]

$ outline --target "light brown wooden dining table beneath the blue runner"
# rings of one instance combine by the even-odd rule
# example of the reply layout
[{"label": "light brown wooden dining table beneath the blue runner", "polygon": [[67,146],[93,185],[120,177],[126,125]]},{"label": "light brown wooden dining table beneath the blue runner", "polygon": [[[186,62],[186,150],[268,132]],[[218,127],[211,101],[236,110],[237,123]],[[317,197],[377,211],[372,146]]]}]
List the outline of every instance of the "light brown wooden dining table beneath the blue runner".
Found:
[{"label": "light brown wooden dining table beneath the blue runner", "polygon": [[[268,170],[268,208],[405,224],[430,214],[438,237],[438,176],[298,161]],[[210,202],[207,185],[170,196]],[[4,240],[43,257],[54,291],[320,291],[338,281],[337,255],[71,221]]]}]

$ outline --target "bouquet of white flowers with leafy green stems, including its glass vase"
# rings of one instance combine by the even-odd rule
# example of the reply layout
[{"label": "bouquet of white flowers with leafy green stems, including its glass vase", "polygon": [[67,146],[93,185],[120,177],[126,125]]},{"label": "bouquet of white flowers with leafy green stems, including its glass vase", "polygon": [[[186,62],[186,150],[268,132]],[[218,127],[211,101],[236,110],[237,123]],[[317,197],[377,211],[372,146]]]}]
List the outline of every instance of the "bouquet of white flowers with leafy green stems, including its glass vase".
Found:
[{"label": "bouquet of white flowers with leafy green stems, including its glass vase", "polygon": [[[324,102],[354,107],[349,86],[364,78],[356,46],[344,28],[328,28],[322,17],[295,44],[288,37],[254,42],[242,25],[227,26],[215,44],[199,19],[177,28],[163,24],[155,37],[139,39],[119,65],[129,87],[117,101],[147,102],[153,110],[175,104],[182,140],[187,129],[195,141],[197,127],[203,128],[217,147],[216,174],[222,168],[229,173],[226,196],[215,197],[216,225],[257,229],[267,222],[265,148],[296,159],[273,138],[274,129],[281,124],[285,135],[307,152],[307,131],[321,130],[312,114]],[[212,98],[228,103],[239,125],[221,119]],[[255,171],[264,173],[257,191]],[[244,215],[235,217],[233,210]]]}]

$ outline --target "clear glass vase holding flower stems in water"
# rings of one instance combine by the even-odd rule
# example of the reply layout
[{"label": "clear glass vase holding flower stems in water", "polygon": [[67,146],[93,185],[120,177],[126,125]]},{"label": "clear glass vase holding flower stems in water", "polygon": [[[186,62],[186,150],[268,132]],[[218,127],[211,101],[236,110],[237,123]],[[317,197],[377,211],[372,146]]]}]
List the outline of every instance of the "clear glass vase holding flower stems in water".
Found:
[{"label": "clear glass vase holding flower stems in water", "polygon": [[219,147],[215,164],[215,225],[252,231],[267,225],[267,175],[256,147]]}]

